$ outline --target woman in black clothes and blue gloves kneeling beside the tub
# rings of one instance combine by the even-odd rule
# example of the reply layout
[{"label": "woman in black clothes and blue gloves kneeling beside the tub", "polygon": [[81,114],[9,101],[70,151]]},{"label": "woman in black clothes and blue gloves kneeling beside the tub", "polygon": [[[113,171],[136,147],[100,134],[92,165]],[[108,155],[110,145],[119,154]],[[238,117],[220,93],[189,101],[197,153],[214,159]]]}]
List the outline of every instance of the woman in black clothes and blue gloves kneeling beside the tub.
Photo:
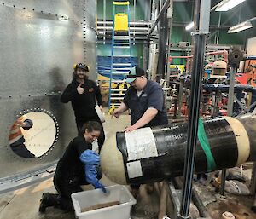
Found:
[{"label": "woman in black clothes and blue gloves kneeling beside the tub", "polygon": [[49,206],[66,211],[73,210],[71,194],[83,191],[81,185],[92,184],[106,192],[98,180],[102,177],[98,168],[99,155],[91,150],[91,143],[99,137],[101,131],[101,124],[89,121],[81,129],[81,133],[84,134],[75,137],[69,143],[55,170],[54,185],[59,194],[43,193],[40,212],[44,212]]}]

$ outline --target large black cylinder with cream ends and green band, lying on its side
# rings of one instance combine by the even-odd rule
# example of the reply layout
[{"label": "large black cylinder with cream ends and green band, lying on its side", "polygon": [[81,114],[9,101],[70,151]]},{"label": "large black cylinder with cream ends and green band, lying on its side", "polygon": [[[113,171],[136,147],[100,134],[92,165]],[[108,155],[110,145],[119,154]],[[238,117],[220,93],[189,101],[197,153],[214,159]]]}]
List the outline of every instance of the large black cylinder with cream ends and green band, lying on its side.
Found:
[{"label": "large black cylinder with cream ends and green band, lying on its side", "polygon": [[[172,176],[183,176],[187,125],[168,124],[118,132],[116,145],[115,142],[107,145],[107,142],[108,151],[102,148],[103,172],[121,184],[158,182]],[[200,132],[204,132],[208,144],[197,141],[196,173],[256,160],[252,154],[256,148],[255,117],[210,118],[203,120],[203,127]]]}]

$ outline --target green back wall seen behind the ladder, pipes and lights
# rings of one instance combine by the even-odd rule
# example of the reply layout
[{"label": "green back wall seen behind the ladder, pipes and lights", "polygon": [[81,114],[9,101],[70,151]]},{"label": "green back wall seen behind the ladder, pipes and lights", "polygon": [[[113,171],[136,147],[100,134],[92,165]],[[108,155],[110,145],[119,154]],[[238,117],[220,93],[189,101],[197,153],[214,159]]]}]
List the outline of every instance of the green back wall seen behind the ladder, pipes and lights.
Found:
[{"label": "green back wall seen behind the ladder, pipes and lights", "polygon": [[[218,3],[217,0],[212,0],[212,7]],[[130,1],[130,17],[131,20],[145,20],[145,5],[148,0],[137,0],[136,10],[133,3]],[[181,41],[189,41],[191,43],[190,32],[185,31],[185,26],[193,20],[194,1],[189,2],[174,2],[173,4],[173,26],[171,42],[176,44]],[[113,1],[106,0],[106,20],[113,19]],[[135,13],[136,11],[136,13]],[[215,38],[218,36],[218,44],[240,44],[246,45],[248,37],[256,37],[256,20],[253,21],[253,28],[244,32],[228,34],[229,26],[234,26],[242,21],[248,20],[256,16],[256,0],[247,0],[234,9],[228,12],[211,12],[210,16],[210,40],[208,43],[216,43]],[[97,1],[97,18],[103,20],[103,0]],[[225,26],[218,29],[220,18],[220,26]],[[132,46],[131,53],[137,56],[139,64],[143,65],[143,44]],[[111,55],[111,46],[109,44],[98,44],[97,55]],[[184,55],[181,52],[176,52],[172,55]],[[175,60],[175,64],[181,64],[183,61]]]}]

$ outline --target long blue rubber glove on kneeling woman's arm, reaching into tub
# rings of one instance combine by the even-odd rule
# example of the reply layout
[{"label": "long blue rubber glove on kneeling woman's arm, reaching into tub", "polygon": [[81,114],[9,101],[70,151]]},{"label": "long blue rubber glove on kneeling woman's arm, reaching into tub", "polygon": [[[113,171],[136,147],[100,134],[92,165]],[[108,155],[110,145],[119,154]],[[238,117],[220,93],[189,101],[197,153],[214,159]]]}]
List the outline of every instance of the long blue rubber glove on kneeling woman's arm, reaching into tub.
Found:
[{"label": "long blue rubber glove on kneeling woman's arm, reaching into tub", "polygon": [[97,179],[96,168],[100,164],[100,156],[92,150],[86,150],[80,155],[80,160],[85,164],[85,180],[95,188],[101,188],[103,193],[106,193],[107,191],[105,186]]}]

